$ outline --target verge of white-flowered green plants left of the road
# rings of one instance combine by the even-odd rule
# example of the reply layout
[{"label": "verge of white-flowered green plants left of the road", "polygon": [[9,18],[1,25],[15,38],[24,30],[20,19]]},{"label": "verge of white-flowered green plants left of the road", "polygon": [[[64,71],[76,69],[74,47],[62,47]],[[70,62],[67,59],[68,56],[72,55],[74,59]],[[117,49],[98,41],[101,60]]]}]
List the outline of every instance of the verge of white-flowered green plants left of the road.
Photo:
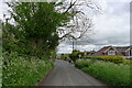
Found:
[{"label": "verge of white-flowered green plants left of the road", "polygon": [[[10,59],[10,61],[9,61]],[[3,86],[35,86],[53,68],[50,61],[3,54]]]}]

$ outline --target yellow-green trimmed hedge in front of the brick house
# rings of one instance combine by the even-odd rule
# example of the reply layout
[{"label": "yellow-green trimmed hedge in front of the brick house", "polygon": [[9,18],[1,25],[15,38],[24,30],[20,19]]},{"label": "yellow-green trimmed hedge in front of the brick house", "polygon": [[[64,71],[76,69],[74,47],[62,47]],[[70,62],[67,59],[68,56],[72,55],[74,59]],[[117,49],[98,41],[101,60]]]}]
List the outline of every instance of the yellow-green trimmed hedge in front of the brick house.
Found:
[{"label": "yellow-green trimmed hedge in front of the brick house", "polygon": [[86,59],[92,59],[92,61],[105,61],[105,62],[112,62],[116,64],[123,63],[124,58],[122,56],[87,56]]}]

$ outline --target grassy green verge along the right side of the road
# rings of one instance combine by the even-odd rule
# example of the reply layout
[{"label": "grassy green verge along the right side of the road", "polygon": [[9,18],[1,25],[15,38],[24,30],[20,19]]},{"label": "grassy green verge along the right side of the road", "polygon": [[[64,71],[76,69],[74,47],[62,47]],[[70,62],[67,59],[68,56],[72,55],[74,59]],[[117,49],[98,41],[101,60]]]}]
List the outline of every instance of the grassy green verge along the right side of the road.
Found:
[{"label": "grassy green verge along the right side of the road", "polygon": [[110,86],[122,86],[125,88],[125,86],[131,85],[129,65],[97,61],[92,62],[92,64],[90,62],[79,62],[75,66]]}]

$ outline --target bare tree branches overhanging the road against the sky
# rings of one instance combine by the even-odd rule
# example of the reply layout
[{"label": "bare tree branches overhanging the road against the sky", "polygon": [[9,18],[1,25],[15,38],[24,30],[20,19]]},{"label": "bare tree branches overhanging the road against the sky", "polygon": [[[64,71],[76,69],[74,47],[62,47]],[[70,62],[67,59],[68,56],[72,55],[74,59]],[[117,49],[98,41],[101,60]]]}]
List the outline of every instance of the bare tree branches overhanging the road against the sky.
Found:
[{"label": "bare tree branches overhanging the road against the sky", "polygon": [[100,12],[101,8],[92,0],[65,0],[57,2],[57,12],[72,13],[72,20],[65,24],[65,26],[58,29],[61,40],[78,40],[87,32],[91,31],[92,20],[88,16],[85,9],[90,9],[92,12]]}]

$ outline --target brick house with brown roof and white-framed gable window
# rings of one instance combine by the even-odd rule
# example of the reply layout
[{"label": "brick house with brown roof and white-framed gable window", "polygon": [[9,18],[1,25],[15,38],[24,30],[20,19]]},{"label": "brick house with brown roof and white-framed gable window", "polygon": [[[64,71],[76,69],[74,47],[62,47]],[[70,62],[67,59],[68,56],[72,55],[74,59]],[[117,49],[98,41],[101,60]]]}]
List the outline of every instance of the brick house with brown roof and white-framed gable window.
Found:
[{"label": "brick house with brown roof and white-framed gable window", "polygon": [[91,56],[120,55],[125,58],[132,58],[132,46],[106,46]]}]

